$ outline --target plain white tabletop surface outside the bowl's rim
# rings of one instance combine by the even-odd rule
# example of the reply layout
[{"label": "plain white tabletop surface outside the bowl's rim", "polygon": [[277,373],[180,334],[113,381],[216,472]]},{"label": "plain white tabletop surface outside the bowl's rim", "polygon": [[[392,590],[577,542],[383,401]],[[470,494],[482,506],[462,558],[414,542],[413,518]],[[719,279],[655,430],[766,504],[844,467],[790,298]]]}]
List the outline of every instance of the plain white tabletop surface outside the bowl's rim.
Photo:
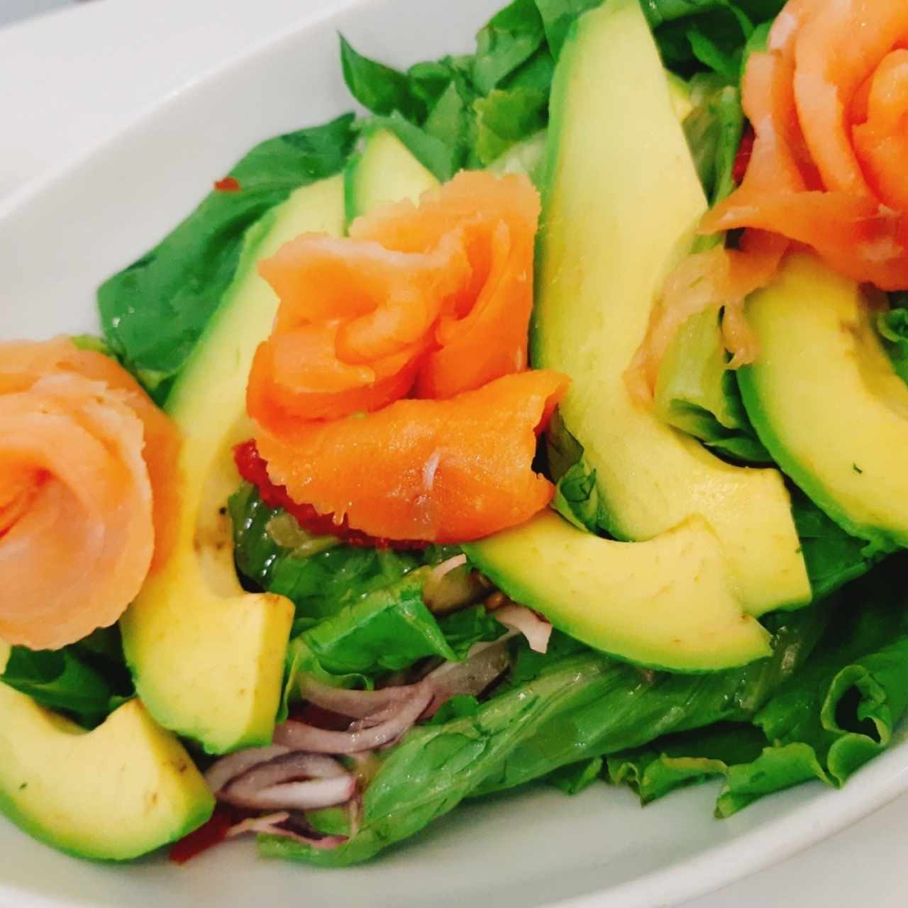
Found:
[{"label": "plain white tabletop surface outside the bowl's rim", "polygon": [[[223,57],[316,7],[346,2],[94,0],[0,28],[0,197],[22,190],[74,154],[90,152]],[[413,3],[418,9],[419,0]],[[0,24],[68,5],[67,0],[0,0]],[[102,21],[104,41],[98,37]],[[46,65],[51,59],[54,65]],[[904,908],[906,849],[908,795],[824,844],[686,908]]]}]

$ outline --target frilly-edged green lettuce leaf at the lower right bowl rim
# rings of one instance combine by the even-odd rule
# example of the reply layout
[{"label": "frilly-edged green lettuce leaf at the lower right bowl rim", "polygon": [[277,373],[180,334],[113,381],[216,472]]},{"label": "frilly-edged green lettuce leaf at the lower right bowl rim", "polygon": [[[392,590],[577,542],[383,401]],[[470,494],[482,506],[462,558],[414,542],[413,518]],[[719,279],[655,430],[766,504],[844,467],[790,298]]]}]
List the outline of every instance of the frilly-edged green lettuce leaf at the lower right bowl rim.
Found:
[{"label": "frilly-edged green lettuce leaf at the lower right bowl rim", "polygon": [[721,776],[717,816],[810,779],[844,785],[890,744],[908,711],[908,610],[895,585],[905,567],[899,560],[849,590],[813,655],[751,725],[670,735],[611,755],[610,780],[630,785],[646,804]]}]

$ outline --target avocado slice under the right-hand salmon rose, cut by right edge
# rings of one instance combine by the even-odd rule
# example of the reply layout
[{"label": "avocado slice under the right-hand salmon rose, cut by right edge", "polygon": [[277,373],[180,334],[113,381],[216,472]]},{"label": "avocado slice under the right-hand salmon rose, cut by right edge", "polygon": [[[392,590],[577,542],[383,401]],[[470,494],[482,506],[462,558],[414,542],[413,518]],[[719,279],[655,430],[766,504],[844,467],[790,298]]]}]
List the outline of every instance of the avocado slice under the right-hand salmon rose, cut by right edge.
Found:
[{"label": "avocado slice under the right-hand salmon rose, cut by right edge", "polygon": [[872,310],[854,281],[789,255],[747,301],[760,355],[738,383],[779,466],[840,527],[886,552],[908,546],[908,386]]}]

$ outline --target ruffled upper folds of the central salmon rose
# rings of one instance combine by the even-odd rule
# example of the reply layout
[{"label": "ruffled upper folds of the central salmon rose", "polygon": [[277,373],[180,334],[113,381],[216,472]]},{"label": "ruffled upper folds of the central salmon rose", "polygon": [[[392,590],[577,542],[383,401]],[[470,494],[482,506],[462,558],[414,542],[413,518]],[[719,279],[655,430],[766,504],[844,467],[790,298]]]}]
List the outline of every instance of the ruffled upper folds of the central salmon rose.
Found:
[{"label": "ruffled upper folds of the central salmon rose", "polygon": [[526,369],[538,213],[526,177],[465,172],[347,238],[285,244],[261,265],[281,305],[252,364],[252,418],[281,432]]}]

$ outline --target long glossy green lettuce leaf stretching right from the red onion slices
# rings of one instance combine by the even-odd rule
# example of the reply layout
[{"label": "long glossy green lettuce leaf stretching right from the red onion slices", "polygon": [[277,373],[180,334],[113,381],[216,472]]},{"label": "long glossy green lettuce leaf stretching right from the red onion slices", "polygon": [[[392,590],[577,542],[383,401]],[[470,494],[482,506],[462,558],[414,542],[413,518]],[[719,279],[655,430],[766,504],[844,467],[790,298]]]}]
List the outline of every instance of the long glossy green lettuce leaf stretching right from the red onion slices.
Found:
[{"label": "long glossy green lettuce leaf stretching right from the red onion slices", "polygon": [[[785,618],[774,655],[734,671],[701,676],[641,672],[565,638],[545,656],[518,653],[511,683],[478,708],[420,725],[384,757],[362,798],[358,832],[332,850],[264,836],[263,854],[342,866],[364,861],[418,832],[468,797],[488,795],[563,766],[654,737],[745,721],[801,664],[822,629],[822,610]],[[595,765],[593,763],[592,765]],[[589,773],[589,766],[586,767]],[[587,782],[566,770],[569,787]]]}]

